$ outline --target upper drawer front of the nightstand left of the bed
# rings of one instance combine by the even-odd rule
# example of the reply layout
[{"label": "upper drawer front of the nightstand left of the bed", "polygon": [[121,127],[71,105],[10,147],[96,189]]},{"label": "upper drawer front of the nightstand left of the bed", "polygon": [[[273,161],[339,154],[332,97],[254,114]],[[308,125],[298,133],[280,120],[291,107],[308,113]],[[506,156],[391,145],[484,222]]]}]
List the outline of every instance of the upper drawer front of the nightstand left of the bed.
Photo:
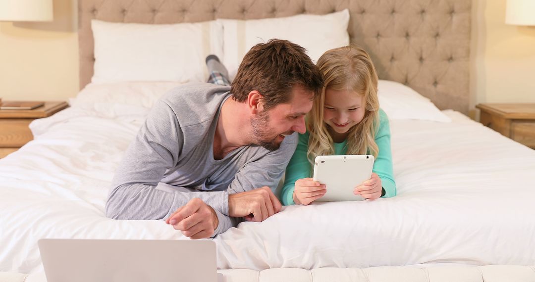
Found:
[{"label": "upper drawer front of the nightstand left of the bed", "polygon": [[28,124],[33,119],[0,120],[0,147],[19,148],[33,139]]}]

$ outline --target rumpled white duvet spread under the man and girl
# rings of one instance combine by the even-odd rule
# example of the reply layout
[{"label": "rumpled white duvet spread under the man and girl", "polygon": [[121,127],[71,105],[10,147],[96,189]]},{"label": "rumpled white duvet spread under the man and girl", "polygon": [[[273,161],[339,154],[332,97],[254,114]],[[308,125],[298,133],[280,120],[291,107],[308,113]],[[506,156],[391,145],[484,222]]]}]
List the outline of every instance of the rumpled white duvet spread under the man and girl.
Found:
[{"label": "rumpled white duvet spread under the man and girl", "polygon": [[[73,107],[34,121],[0,160],[0,271],[42,271],[41,238],[187,239],[163,221],[104,217],[146,107]],[[78,104],[77,104],[78,103]],[[221,269],[535,264],[535,151],[469,120],[391,121],[398,195],[286,207],[214,239]]]}]

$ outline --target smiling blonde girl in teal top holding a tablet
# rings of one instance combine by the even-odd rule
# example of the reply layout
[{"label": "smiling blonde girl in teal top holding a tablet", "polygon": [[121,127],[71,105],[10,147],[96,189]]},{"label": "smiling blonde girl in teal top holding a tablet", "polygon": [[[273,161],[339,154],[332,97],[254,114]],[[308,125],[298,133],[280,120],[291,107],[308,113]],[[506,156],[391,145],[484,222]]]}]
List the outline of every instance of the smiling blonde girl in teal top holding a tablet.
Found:
[{"label": "smiling blonde girl in teal top holding a tablet", "polygon": [[310,178],[318,155],[375,156],[373,173],[364,183],[355,183],[355,194],[366,199],[393,197],[388,117],[379,108],[377,73],[366,53],[357,46],[328,50],[318,60],[325,79],[322,95],[314,101],[307,132],[286,168],[281,200],[284,205],[308,205],[323,197],[328,187]]}]

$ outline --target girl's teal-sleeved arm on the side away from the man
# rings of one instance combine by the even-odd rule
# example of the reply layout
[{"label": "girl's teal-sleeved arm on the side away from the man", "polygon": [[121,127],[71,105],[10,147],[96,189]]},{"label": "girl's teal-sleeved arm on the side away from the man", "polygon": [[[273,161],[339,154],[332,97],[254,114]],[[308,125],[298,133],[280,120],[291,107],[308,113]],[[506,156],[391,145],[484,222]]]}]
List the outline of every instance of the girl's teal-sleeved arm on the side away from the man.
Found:
[{"label": "girl's teal-sleeved arm on the side away from the man", "polygon": [[381,198],[389,198],[396,195],[396,183],[394,181],[392,149],[390,147],[390,124],[388,116],[382,109],[379,109],[379,121],[379,129],[375,136],[379,154],[375,159],[375,163],[373,163],[373,172],[381,178],[381,185],[383,185],[385,191]]}]

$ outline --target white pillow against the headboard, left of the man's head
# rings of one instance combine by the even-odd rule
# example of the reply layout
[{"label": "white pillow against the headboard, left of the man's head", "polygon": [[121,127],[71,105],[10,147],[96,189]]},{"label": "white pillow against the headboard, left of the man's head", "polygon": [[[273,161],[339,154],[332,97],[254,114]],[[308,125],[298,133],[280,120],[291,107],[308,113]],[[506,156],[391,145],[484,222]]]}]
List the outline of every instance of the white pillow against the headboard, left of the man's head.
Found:
[{"label": "white pillow against the headboard, left of the man's head", "polygon": [[223,26],[216,21],[148,25],[91,20],[91,28],[93,83],[203,82],[208,54],[223,56]]}]

